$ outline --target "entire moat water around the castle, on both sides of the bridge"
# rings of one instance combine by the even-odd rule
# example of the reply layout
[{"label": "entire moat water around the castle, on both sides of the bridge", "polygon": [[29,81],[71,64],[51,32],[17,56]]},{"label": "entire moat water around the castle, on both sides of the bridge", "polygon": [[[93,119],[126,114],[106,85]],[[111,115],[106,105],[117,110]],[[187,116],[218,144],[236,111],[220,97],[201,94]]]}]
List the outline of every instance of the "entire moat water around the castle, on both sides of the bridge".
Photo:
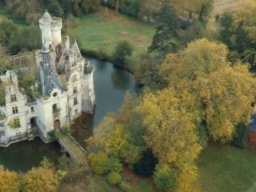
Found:
[{"label": "entire moat water around the castle, on both sides of the bridge", "polygon": [[[84,140],[92,134],[93,125],[97,125],[108,112],[116,112],[124,101],[127,90],[139,91],[134,77],[126,70],[114,67],[111,62],[87,59],[95,66],[94,86],[96,110],[94,115],[85,114],[72,125],[72,136],[84,146]],[[40,138],[22,141],[0,148],[0,164],[6,169],[26,172],[38,166],[43,156],[55,161],[62,154],[57,142],[45,144]]]}]

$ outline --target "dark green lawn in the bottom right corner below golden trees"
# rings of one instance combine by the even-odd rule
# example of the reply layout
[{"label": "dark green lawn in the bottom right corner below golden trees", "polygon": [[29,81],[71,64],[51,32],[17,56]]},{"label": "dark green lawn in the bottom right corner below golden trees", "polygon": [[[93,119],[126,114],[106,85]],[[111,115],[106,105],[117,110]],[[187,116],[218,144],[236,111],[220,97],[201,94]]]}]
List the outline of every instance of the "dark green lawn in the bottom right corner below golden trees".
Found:
[{"label": "dark green lawn in the bottom right corner below golden trees", "polygon": [[202,191],[255,191],[256,152],[250,149],[211,142],[200,154],[197,165]]}]

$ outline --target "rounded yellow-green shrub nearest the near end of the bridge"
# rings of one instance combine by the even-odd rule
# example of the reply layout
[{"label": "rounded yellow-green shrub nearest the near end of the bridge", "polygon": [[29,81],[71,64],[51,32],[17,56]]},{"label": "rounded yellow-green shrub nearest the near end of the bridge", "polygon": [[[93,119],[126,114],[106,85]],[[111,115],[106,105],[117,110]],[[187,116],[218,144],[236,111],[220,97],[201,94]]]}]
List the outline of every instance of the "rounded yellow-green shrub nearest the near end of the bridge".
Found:
[{"label": "rounded yellow-green shrub nearest the near end of the bridge", "polygon": [[105,152],[92,152],[88,160],[94,173],[101,175],[108,172],[108,155]]}]

